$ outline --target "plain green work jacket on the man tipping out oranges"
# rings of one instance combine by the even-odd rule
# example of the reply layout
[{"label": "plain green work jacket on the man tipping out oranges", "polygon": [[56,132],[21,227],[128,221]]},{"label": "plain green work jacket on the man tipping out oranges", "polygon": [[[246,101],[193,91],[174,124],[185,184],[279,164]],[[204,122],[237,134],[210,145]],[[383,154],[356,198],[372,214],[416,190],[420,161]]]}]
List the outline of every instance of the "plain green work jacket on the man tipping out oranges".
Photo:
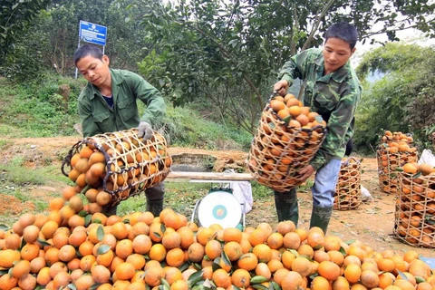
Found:
[{"label": "plain green work jacket on the man tipping out oranges", "polygon": [[[151,126],[162,121],[166,105],[160,92],[140,75],[111,69],[113,108],[91,82],[82,90],[78,100],[83,137],[138,127],[140,121]],[[137,100],[147,108],[140,118]]]}]

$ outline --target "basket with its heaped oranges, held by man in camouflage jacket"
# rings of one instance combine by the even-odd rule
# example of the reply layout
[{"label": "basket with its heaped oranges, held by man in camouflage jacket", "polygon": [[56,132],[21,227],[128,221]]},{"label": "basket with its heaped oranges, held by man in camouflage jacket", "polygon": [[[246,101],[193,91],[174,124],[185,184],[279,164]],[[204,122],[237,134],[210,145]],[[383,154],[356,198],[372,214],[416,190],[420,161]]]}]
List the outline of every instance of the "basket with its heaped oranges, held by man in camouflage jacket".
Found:
[{"label": "basket with its heaped oranges, held by man in camouflage jacket", "polygon": [[326,135],[317,112],[288,93],[273,94],[262,111],[248,154],[248,169],[262,185],[284,192],[302,183],[298,171],[313,160]]}]

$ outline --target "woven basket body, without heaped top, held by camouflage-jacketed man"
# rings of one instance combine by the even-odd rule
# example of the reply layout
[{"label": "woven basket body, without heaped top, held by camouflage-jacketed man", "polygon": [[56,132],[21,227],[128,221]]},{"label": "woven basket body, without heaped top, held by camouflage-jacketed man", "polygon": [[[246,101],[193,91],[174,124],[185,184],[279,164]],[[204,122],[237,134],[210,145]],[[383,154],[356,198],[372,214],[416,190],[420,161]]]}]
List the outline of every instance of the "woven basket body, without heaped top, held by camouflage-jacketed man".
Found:
[{"label": "woven basket body, without heaped top, held by camouflage-jacketed man", "polygon": [[302,183],[298,171],[313,160],[325,135],[322,124],[312,128],[289,126],[272,110],[269,101],[251,143],[247,167],[262,185],[278,192],[293,189]]}]

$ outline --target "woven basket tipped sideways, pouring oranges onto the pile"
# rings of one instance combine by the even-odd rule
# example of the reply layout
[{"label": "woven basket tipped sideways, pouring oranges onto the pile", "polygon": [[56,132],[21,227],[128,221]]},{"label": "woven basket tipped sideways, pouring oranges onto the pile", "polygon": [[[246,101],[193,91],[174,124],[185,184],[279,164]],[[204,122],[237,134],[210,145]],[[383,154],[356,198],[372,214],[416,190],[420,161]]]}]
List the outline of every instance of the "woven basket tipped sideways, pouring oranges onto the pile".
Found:
[{"label": "woven basket tipped sideways, pouring oranges onto the pile", "polygon": [[[94,163],[92,155],[95,152],[100,152],[94,155],[99,156],[99,162],[95,163],[104,165],[100,175],[91,165]],[[81,170],[76,172],[80,162],[78,160],[81,159],[88,161],[88,169],[79,168]],[[168,176],[171,163],[167,142],[159,132],[154,131],[150,140],[143,142],[138,137],[137,128],[134,128],[99,134],[78,141],[64,158],[62,172],[72,179],[83,193],[88,189],[110,193],[111,203],[107,207],[112,207],[121,200],[159,184]],[[97,176],[92,176],[95,172]]]}]

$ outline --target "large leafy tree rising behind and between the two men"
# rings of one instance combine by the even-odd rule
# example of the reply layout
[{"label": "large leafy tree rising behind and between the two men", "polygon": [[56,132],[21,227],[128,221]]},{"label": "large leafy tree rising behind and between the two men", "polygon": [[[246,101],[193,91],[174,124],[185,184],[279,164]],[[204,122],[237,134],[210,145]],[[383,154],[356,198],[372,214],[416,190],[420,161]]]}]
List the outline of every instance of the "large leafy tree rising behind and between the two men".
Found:
[{"label": "large leafy tree rising behind and between the two men", "polygon": [[[280,67],[297,51],[320,45],[329,24],[348,21],[362,41],[406,22],[433,36],[435,5],[427,1],[180,0],[147,4],[143,24],[155,51],[140,72],[180,105],[207,99],[254,133],[258,113]],[[372,26],[382,24],[379,31]]]}]

